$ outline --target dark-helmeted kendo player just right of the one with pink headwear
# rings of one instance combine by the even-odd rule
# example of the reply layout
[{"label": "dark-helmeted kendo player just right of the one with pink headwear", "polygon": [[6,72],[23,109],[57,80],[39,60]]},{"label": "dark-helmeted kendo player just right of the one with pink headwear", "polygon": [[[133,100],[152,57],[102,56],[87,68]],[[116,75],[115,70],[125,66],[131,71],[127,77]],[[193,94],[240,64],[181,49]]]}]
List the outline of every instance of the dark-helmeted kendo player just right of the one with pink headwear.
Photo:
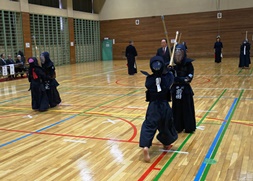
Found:
[{"label": "dark-helmeted kendo player just right of the one with pink headwear", "polygon": [[49,99],[50,107],[55,107],[61,103],[60,94],[57,90],[59,83],[56,81],[56,73],[54,63],[50,60],[49,53],[43,52],[40,55],[42,67],[48,77],[46,82],[46,92]]}]

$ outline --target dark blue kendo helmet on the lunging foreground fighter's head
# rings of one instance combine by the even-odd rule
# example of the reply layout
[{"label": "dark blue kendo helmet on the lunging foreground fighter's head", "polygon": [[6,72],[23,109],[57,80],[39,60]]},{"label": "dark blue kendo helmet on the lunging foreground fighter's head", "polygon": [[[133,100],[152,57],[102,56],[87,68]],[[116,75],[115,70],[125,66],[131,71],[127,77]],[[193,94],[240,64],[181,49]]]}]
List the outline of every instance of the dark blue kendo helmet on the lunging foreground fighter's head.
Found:
[{"label": "dark blue kendo helmet on the lunging foreground fighter's head", "polygon": [[161,56],[154,56],[150,59],[150,69],[156,75],[161,75],[164,71],[164,61]]}]

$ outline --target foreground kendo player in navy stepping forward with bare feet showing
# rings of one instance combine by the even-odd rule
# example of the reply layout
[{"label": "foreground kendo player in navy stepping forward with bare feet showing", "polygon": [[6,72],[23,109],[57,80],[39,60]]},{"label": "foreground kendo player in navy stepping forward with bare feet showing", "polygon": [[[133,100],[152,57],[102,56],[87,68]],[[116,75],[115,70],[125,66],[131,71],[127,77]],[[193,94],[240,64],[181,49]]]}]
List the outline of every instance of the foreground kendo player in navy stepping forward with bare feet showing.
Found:
[{"label": "foreground kendo player in navy stepping forward with bare feet showing", "polygon": [[149,148],[158,130],[156,138],[163,144],[163,149],[169,150],[178,135],[174,127],[170,101],[170,87],[174,76],[165,70],[165,63],[161,56],[150,59],[153,74],[143,72],[146,77],[146,101],[149,102],[146,118],[141,127],[139,146],[143,148],[144,160],[150,162]]}]

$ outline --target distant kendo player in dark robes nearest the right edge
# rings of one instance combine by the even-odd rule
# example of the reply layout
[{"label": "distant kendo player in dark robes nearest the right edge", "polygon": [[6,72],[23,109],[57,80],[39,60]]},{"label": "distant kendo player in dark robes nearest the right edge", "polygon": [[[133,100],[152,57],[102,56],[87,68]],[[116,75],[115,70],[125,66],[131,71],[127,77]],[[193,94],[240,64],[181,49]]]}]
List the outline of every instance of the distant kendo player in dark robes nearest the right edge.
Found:
[{"label": "distant kendo player in dark robes nearest the right edge", "polygon": [[244,40],[240,46],[240,68],[249,68],[250,64],[250,43],[248,40]]}]

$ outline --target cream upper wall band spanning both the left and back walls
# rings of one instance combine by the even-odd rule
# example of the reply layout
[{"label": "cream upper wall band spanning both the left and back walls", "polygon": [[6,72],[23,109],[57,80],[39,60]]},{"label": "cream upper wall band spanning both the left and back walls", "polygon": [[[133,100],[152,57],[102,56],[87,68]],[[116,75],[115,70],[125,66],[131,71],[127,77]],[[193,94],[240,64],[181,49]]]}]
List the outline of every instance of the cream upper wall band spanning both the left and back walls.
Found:
[{"label": "cream upper wall band spanning both the left and back walls", "polygon": [[[67,0],[68,2],[71,0]],[[220,6],[218,5],[220,2]],[[0,10],[30,12],[90,19],[110,20],[160,15],[185,14],[253,7],[253,0],[106,0],[100,14],[60,10],[45,6],[29,5],[28,0],[13,2],[0,0]]]}]

